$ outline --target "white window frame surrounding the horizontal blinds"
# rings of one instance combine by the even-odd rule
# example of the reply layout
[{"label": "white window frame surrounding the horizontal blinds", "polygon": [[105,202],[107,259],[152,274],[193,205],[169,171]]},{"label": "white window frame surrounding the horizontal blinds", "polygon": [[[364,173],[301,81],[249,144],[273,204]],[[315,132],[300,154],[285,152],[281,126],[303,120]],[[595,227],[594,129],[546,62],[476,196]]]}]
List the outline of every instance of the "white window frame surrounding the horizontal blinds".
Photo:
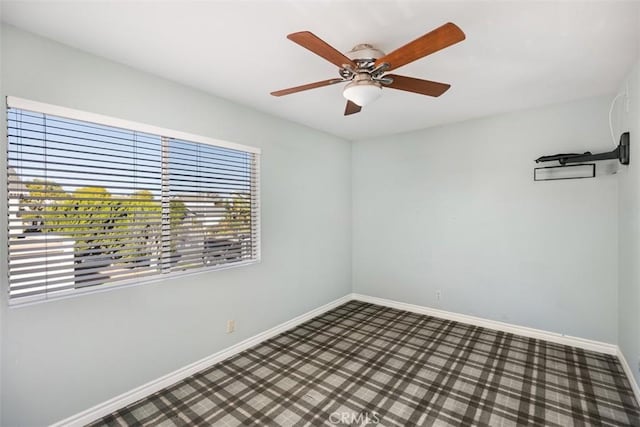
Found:
[{"label": "white window frame surrounding the horizontal blinds", "polygon": [[[252,154],[256,155],[256,161],[255,161],[255,183],[256,183],[255,184],[255,187],[256,187],[255,188],[255,201],[256,201],[256,205],[257,205],[256,206],[256,217],[255,217],[255,221],[256,221],[256,224],[255,224],[255,230],[256,230],[256,236],[255,236],[256,256],[253,259],[245,260],[245,261],[239,261],[239,262],[233,262],[233,263],[229,263],[229,264],[209,265],[209,266],[208,265],[203,265],[201,267],[197,267],[197,268],[189,269],[189,270],[177,270],[177,271],[171,271],[171,272],[167,272],[167,273],[158,272],[157,274],[150,275],[150,276],[144,277],[144,278],[125,279],[125,280],[117,281],[115,283],[106,283],[106,284],[101,284],[101,285],[97,285],[97,286],[85,287],[85,288],[75,288],[75,289],[56,291],[55,295],[53,295],[53,296],[48,295],[47,292],[44,292],[44,293],[38,294],[38,295],[20,297],[20,298],[17,298],[17,300],[16,299],[12,299],[10,297],[10,285],[9,285],[9,280],[7,280],[7,282],[6,282],[7,283],[7,288],[4,290],[4,292],[6,292],[5,295],[7,296],[8,305],[10,307],[27,306],[27,305],[46,302],[46,301],[54,301],[54,300],[65,299],[65,298],[74,298],[74,297],[77,297],[77,296],[80,296],[80,295],[87,295],[87,294],[93,294],[93,293],[99,293],[99,292],[108,292],[110,290],[117,289],[117,288],[127,288],[127,287],[132,287],[132,286],[148,285],[148,284],[153,284],[153,283],[158,283],[158,282],[164,282],[164,281],[167,281],[167,280],[173,280],[173,279],[180,278],[180,277],[190,277],[190,276],[196,276],[196,275],[200,275],[200,274],[210,273],[212,271],[219,271],[219,270],[227,270],[227,269],[232,269],[232,268],[237,268],[237,267],[244,267],[244,266],[248,266],[248,265],[252,265],[252,264],[258,264],[258,263],[261,262],[261,259],[262,259],[262,256],[261,256],[261,253],[262,253],[262,242],[261,242],[261,235],[262,235],[262,230],[261,230],[262,209],[261,209],[261,207],[262,207],[262,202],[261,202],[261,197],[260,197],[260,188],[261,188],[260,164],[261,164],[262,150],[260,148],[249,146],[249,145],[244,145],[244,144],[239,144],[239,143],[235,143],[235,142],[229,142],[229,141],[225,141],[225,140],[215,139],[215,138],[209,138],[209,137],[196,135],[196,134],[192,134],[192,133],[188,133],[188,132],[182,132],[182,131],[177,131],[177,130],[173,130],[173,129],[163,128],[163,127],[159,127],[159,126],[155,126],[155,125],[149,125],[149,124],[145,124],[145,123],[135,122],[135,121],[131,121],[131,120],[105,116],[105,115],[102,115],[102,114],[96,114],[96,113],[76,110],[76,109],[72,109],[72,108],[62,107],[62,106],[53,105],[53,104],[47,104],[47,103],[38,102],[38,101],[31,101],[31,100],[28,100],[28,99],[19,98],[19,97],[15,97],[15,96],[7,96],[6,97],[5,113],[8,111],[9,108],[21,109],[21,110],[26,110],[26,111],[30,111],[30,112],[48,114],[48,115],[53,115],[53,116],[59,116],[59,117],[62,117],[62,118],[67,118],[67,119],[72,119],[72,120],[80,120],[80,121],[90,122],[90,123],[94,123],[94,124],[98,124],[98,125],[104,125],[104,126],[111,126],[111,127],[126,129],[128,131],[144,132],[144,133],[147,133],[147,134],[154,134],[154,135],[161,136],[161,137],[182,140],[182,141],[185,141],[185,142],[201,143],[201,144],[212,145],[212,146],[219,147],[219,148],[228,148],[228,149],[232,149],[232,150],[239,150],[239,151],[252,153]],[[5,122],[6,122],[6,118],[5,118]],[[6,126],[6,123],[5,123],[5,126]],[[5,135],[5,144],[6,144],[5,147],[8,147],[8,145],[9,145],[8,138],[9,138],[8,134]],[[5,174],[6,174],[6,172],[9,170],[8,158],[5,158],[5,162],[4,163],[5,163],[4,164],[4,170],[5,170]],[[6,178],[5,178],[5,190],[6,190],[6,188],[7,188],[7,182],[6,182]],[[8,194],[7,194],[7,198],[8,198]],[[10,223],[10,218],[9,218],[9,212],[7,211],[5,213],[5,218],[4,218],[5,230],[9,229],[9,223]],[[7,279],[8,279],[8,277],[9,277],[9,269],[8,269],[8,263],[9,263],[9,256],[8,256],[9,255],[9,252],[8,252],[9,234],[8,233],[6,234],[5,241],[6,241],[6,247],[7,247],[6,268],[7,268]]]}]

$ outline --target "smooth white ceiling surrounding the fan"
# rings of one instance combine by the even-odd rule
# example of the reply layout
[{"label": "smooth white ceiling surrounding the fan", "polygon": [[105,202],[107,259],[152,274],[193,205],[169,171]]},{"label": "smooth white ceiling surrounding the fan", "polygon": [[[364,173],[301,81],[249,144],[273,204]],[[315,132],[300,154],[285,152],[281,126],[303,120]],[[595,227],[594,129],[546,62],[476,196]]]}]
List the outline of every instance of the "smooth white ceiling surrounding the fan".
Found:
[{"label": "smooth white ceiling surrounding the fan", "polygon": [[[347,139],[613,93],[638,57],[639,2],[2,1],[2,20]],[[286,39],[309,30],[341,51],[390,52],[454,22],[467,39],[394,73],[450,83],[440,98],[386,89],[344,117],[337,76]]]}]

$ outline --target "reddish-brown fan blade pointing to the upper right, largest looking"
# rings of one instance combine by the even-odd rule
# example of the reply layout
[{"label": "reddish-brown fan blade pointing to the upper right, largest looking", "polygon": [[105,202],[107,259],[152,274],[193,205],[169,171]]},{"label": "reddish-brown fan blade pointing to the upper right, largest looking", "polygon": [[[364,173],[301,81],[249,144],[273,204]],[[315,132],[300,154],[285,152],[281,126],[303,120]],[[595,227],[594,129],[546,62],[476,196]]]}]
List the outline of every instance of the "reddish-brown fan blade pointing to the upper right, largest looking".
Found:
[{"label": "reddish-brown fan blade pointing to the upper right, largest looking", "polygon": [[389,64],[387,71],[394,70],[416,59],[423,58],[445,47],[461,42],[464,39],[465,35],[462,30],[458,28],[456,24],[448,22],[424,36],[407,43],[401,48],[386,54],[382,58],[378,58],[375,66],[377,67],[386,62]]}]

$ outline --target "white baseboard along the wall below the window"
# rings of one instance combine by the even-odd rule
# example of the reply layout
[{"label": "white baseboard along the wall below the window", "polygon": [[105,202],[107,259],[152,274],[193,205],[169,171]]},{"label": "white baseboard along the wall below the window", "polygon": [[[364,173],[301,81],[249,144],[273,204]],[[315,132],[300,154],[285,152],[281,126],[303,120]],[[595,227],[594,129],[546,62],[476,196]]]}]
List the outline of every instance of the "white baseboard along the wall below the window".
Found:
[{"label": "white baseboard along the wall below the window", "polygon": [[188,376],[193,375],[199,371],[202,371],[203,369],[206,369],[216,363],[222,362],[223,360],[228,359],[229,357],[234,356],[240,353],[241,351],[244,351],[250,347],[253,347],[256,344],[261,343],[262,341],[268,340],[269,338],[272,338],[278,334],[281,334],[282,332],[285,332],[291,328],[294,328],[306,322],[307,320],[310,320],[326,311],[336,308],[339,305],[342,305],[352,299],[353,299],[352,295],[347,294],[342,298],[338,298],[337,300],[332,301],[328,304],[325,304],[322,307],[318,307],[298,317],[295,317],[291,320],[288,320],[284,323],[274,326],[271,329],[268,329],[264,332],[261,332],[250,338],[247,338],[244,341],[241,341],[231,347],[227,347],[224,350],[221,350],[217,353],[214,353],[210,356],[205,357],[204,359],[200,359],[197,362],[194,362],[190,365],[187,365],[183,368],[173,371],[156,380],[143,384],[140,387],[134,388],[133,390],[125,392],[112,399],[109,399],[106,402],[100,403],[92,408],[89,408],[78,414],[65,418],[62,421],[58,421],[57,423],[53,424],[52,427],[61,427],[61,426],[75,427],[75,426],[87,425],[90,422],[93,422],[99,418],[102,418],[105,415],[109,415],[110,413],[124,406],[127,406],[133,402],[136,402],[137,400],[142,399],[145,396],[148,396],[157,391],[160,391],[165,387],[175,384],[176,382],[181,381],[187,378]]}]

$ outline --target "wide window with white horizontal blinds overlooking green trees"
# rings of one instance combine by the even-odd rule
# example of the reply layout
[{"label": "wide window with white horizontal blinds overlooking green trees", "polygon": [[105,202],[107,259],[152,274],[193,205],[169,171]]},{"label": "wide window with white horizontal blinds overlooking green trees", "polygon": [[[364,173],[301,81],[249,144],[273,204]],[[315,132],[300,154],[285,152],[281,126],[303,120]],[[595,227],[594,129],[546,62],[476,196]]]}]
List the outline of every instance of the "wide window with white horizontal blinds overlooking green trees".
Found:
[{"label": "wide window with white horizontal blinds overlooking green trees", "polygon": [[7,106],[12,304],[259,260],[258,149]]}]

